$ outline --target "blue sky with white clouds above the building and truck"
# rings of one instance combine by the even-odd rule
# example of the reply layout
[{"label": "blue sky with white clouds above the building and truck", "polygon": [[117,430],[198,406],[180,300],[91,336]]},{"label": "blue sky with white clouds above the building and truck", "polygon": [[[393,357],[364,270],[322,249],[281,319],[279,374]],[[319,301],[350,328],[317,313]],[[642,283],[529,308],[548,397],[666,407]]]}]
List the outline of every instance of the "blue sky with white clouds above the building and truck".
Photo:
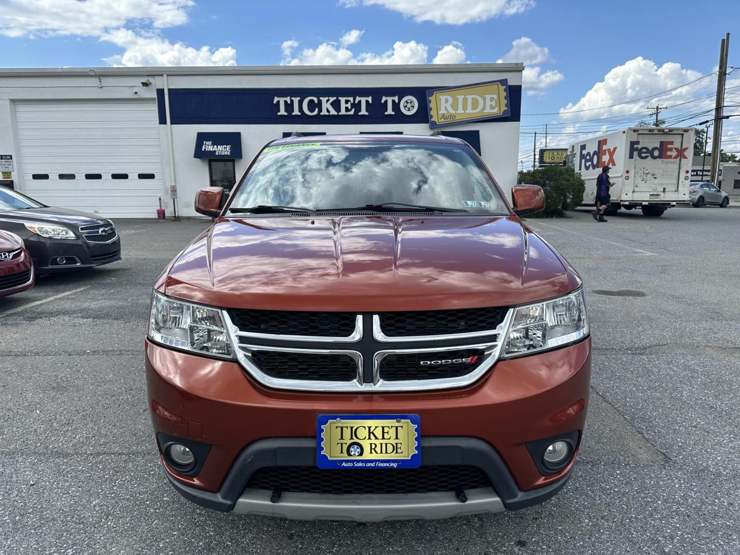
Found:
[{"label": "blue sky with white clouds above the building and truck", "polygon": [[[528,134],[539,138],[545,123],[548,146],[558,146],[578,136],[565,133],[633,124],[648,104],[668,106],[669,123],[706,119],[713,76],[659,93],[716,70],[719,41],[740,30],[739,12],[730,0],[0,0],[0,64],[524,61],[526,164]],[[730,66],[738,67],[735,53],[740,33],[730,42]],[[740,104],[740,87],[730,88],[737,85],[740,70],[730,75],[726,112],[740,113],[730,106]],[[612,104],[620,105],[605,108]],[[539,113],[547,115],[527,115]],[[723,141],[740,150],[740,118],[727,122]]]}]

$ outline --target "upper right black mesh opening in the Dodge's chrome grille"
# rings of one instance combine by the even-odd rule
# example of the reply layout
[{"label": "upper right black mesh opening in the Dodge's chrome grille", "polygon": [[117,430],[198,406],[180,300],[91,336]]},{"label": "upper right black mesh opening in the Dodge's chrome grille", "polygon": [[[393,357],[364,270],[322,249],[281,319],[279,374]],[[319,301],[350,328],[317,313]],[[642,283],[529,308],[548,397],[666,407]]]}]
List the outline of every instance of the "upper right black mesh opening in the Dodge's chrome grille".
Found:
[{"label": "upper right black mesh opening in the Dodge's chrome grille", "polygon": [[383,312],[380,327],[388,337],[483,332],[502,323],[506,309]]}]

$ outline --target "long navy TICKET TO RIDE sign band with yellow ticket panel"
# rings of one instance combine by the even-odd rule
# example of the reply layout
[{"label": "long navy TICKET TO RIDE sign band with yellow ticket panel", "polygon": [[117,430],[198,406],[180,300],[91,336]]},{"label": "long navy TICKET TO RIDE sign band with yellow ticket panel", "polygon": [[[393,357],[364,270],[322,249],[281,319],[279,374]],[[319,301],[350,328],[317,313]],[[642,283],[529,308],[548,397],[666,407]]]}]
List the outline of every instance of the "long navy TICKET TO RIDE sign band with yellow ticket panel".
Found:
[{"label": "long navy TICKET TO RIDE sign band with yellow ticket panel", "polygon": [[[159,119],[166,123],[164,91]],[[428,124],[519,121],[522,87],[507,79],[460,87],[170,89],[172,124]]]}]

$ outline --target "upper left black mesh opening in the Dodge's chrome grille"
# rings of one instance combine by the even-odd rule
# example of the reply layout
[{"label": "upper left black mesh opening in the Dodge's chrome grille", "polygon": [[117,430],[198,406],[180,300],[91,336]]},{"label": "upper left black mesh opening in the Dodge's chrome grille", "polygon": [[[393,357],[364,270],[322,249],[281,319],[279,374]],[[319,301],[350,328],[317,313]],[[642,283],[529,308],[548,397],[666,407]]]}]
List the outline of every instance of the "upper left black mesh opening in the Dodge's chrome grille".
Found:
[{"label": "upper left black mesh opening in the Dodge's chrome grille", "polygon": [[231,309],[229,315],[241,332],[314,337],[348,337],[354,332],[351,312]]}]

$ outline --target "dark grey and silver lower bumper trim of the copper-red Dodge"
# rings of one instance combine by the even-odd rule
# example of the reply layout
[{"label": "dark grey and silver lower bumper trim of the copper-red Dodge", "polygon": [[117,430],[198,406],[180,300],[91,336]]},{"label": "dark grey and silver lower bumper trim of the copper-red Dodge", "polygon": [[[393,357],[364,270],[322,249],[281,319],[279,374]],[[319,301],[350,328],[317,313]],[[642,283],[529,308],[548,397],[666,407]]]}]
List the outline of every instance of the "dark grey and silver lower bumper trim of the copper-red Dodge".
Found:
[{"label": "dark grey and silver lower bumper trim of the copper-red Dodge", "polygon": [[[216,511],[260,514],[298,520],[440,519],[468,514],[499,513],[539,504],[562,489],[571,469],[558,481],[531,491],[520,491],[499,454],[473,437],[424,437],[421,447],[425,465],[470,465],[482,468],[492,488],[465,489],[466,502],[454,492],[423,494],[307,494],[286,492],[271,502],[271,492],[247,487],[249,477],[270,466],[312,466],[316,442],[311,439],[260,440],[242,451],[217,492],[203,491],[166,474],[185,499]],[[383,472],[383,471],[381,471]]]}]

